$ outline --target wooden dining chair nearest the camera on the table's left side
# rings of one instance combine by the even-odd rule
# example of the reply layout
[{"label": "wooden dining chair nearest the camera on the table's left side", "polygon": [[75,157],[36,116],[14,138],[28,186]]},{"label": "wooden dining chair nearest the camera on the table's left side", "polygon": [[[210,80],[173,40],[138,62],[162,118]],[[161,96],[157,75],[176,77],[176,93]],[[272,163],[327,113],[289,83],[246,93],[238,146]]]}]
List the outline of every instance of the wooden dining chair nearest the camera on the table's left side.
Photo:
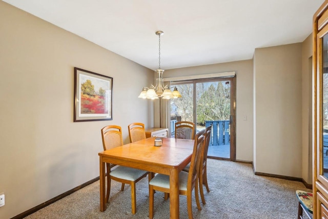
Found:
[{"label": "wooden dining chair nearest the camera on the table's left side", "polygon": [[[120,126],[110,125],[101,129],[101,137],[103,138],[104,150],[108,150],[123,145],[122,129]],[[116,165],[114,165],[116,166]],[[144,178],[148,172],[144,170],[138,170],[130,167],[116,166],[111,170],[111,165],[106,163],[107,168],[107,192],[106,202],[108,202],[109,194],[111,191],[111,180],[122,183],[121,191],[124,190],[124,185],[129,184],[131,186],[131,208],[132,214],[136,212],[136,195],[135,184]]]}]

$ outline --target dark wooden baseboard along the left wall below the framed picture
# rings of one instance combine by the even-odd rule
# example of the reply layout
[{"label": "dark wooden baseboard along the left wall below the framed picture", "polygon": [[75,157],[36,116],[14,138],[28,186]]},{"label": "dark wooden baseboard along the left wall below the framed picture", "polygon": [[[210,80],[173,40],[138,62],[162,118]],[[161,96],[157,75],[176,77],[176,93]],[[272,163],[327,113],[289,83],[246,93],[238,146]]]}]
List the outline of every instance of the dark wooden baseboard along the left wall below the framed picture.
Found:
[{"label": "dark wooden baseboard along the left wall below the framed picture", "polygon": [[29,209],[27,211],[24,211],[23,213],[20,213],[20,214],[18,214],[16,216],[12,217],[11,219],[20,219],[20,218],[24,218],[24,217],[26,217],[26,216],[28,216],[30,214],[33,214],[34,212],[36,212],[36,211],[38,211],[38,210],[40,210],[40,209],[42,209],[44,207],[47,207],[48,205],[50,205],[50,204],[52,204],[52,203],[54,203],[54,202],[56,202],[58,200],[61,200],[61,198],[64,198],[67,195],[70,195],[73,192],[76,192],[77,190],[79,190],[79,189],[81,189],[83,187],[89,186],[90,184],[92,184],[92,183],[94,183],[94,182],[96,182],[98,180],[99,180],[99,176],[98,177],[95,177],[92,180],[90,180],[90,181],[88,181],[88,182],[86,182],[86,183],[84,183],[82,185],[79,185],[79,186],[77,186],[77,187],[75,187],[75,188],[73,188],[71,190],[68,190],[67,192],[64,192],[63,194],[60,194],[60,195],[58,195],[56,197],[53,197],[53,198],[51,198],[51,200],[48,200],[47,202],[44,202],[42,204],[39,204],[39,205],[35,206],[34,208],[31,208],[31,209]]}]

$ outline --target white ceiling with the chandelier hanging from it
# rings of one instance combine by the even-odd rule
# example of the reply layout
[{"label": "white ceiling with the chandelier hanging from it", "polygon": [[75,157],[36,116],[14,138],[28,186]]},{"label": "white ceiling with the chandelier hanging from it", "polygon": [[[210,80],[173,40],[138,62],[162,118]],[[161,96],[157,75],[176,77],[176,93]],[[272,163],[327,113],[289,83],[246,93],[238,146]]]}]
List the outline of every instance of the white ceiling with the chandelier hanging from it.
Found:
[{"label": "white ceiling with the chandelier hanging from it", "polygon": [[[251,59],[303,42],[324,0],[3,0],[150,69]],[[110,61],[109,61],[110,62]]]}]

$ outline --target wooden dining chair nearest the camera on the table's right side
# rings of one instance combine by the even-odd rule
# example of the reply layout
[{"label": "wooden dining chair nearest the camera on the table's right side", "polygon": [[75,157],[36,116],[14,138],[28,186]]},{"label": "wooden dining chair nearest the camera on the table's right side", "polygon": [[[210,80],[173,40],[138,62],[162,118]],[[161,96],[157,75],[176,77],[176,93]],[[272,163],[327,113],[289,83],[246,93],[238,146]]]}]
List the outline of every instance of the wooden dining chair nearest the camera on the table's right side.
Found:
[{"label": "wooden dining chair nearest the camera on the table's right side", "polygon": [[[196,204],[198,210],[201,210],[199,197],[198,197],[198,174],[199,174],[199,164],[201,151],[204,146],[204,131],[197,133],[195,136],[195,143],[193,154],[191,157],[190,171],[187,173],[181,171],[179,173],[179,194],[187,195],[187,207],[188,216],[190,219],[193,218],[192,211],[192,191],[195,190]],[[154,191],[161,191],[165,193],[170,193],[170,176],[157,174],[149,182],[149,218],[154,216]]]}]

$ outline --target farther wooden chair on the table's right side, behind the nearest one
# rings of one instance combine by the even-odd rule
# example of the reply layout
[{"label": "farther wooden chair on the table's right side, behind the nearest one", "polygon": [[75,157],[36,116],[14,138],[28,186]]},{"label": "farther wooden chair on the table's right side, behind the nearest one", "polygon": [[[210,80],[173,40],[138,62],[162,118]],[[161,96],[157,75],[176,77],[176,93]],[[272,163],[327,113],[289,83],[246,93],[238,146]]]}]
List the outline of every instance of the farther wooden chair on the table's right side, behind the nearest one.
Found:
[{"label": "farther wooden chair on the table's right side, behind the nearest one", "polygon": [[[201,202],[206,204],[204,197],[203,185],[205,185],[207,192],[210,192],[209,185],[207,183],[207,153],[209,150],[210,140],[211,140],[212,126],[204,129],[205,143],[201,152],[200,165],[199,165],[199,193]],[[190,163],[183,169],[183,171],[189,172]]]}]

